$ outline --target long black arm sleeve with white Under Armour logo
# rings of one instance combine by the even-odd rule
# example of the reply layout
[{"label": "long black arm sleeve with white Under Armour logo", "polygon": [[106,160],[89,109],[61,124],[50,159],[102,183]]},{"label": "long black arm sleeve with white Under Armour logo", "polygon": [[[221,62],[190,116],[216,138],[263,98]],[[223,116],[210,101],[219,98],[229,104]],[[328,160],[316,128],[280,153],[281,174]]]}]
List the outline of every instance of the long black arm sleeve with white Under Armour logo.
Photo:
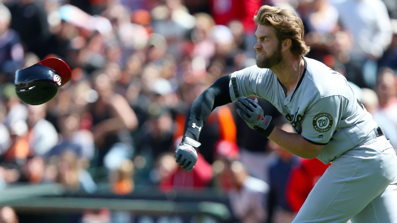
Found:
[{"label": "long black arm sleeve with white Under Armour logo", "polygon": [[183,137],[187,136],[198,142],[201,128],[212,110],[231,102],[229,80],[230,75],[220,77],[196,98],[186,115]]}]

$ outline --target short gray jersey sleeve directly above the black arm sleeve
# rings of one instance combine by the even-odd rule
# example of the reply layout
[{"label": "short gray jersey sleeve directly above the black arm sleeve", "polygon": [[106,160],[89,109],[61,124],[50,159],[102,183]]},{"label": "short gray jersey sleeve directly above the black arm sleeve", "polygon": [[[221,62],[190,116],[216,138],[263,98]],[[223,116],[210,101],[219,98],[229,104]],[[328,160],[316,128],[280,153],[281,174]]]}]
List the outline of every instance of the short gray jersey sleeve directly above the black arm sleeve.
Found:
[{"label": "short gray jersey sleeve directly above the black arm sleeve", "polygon": [[[235,71],[230,74],[229,93],[232,102],[239,97],[258,95],[258,86],[266,74],[266,70],[256,65]],[[261,84],[262,84],[261,83]]]}]

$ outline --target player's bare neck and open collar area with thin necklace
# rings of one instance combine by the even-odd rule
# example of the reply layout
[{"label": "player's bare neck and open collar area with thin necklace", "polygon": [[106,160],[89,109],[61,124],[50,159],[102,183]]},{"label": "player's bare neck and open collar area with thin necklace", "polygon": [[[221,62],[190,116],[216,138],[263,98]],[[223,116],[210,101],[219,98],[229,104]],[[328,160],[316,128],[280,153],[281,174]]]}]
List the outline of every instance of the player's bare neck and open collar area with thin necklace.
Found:
[{"label": "player's bare neck and open collar area with thin necklace", "polygon": [[[299,62],[301,61],[301,69],[299,70]],[[302,77],[304,69],[304,61],[301,57],[284,58],[278,65],[270,68],[277,76],[283,87],[287,90],[287,95],[295,90],[297,86],[298,76]]]}]

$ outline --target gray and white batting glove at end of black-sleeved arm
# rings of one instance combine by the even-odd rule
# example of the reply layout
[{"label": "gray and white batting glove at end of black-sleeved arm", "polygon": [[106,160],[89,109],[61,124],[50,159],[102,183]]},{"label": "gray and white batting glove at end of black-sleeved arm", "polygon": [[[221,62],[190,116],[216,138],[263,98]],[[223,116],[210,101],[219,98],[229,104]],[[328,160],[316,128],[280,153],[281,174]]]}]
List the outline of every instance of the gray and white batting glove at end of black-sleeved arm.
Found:
[{"label": "gray and white batting glove at end of black-sleeved arm", "polygon": [[179,144],[175,151],[176,162],[186,171],[192,171],[197,162],[196,149],[200,146],[200,142],[197,142],[193,138],[183,137],[182,143]]}]

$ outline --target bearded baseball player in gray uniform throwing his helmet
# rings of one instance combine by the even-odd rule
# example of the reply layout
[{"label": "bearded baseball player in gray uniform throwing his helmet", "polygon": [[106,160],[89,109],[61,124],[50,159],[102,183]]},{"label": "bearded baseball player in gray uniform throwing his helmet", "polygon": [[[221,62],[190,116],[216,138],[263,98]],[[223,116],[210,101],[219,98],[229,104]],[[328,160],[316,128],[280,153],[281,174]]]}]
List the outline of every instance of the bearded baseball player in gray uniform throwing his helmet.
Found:
[{"label": "bearded baseball player in gray uniform throwing his helmet", "polygon": [[[293,223],[396,223],[397,157],[343,75],[304,57],[303,24],[291,10],[262,6],[256,65],[221,77],[193,102],[175,158],[193,169],[198,137],[210,112],[237,101],[247,125],[302,158],[331,163]],[[270,101],[293,125],[287,133],[247,96]]]}]

